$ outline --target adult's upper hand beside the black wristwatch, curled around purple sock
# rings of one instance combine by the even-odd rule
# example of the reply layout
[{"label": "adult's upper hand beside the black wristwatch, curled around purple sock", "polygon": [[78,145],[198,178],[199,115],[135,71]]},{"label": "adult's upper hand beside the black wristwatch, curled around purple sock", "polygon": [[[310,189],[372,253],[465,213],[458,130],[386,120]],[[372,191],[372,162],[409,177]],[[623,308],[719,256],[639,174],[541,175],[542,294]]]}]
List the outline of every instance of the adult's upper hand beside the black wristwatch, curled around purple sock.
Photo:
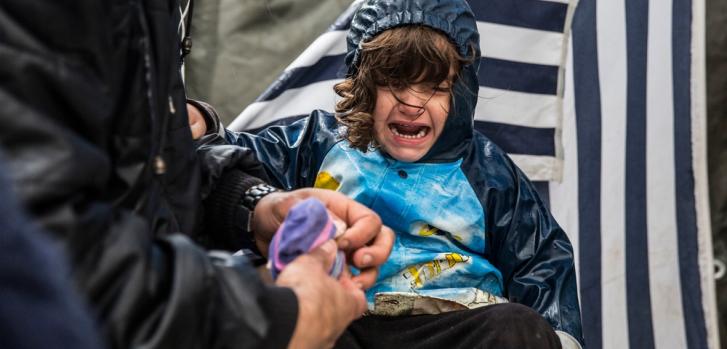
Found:
[{"label": "adult's upper hand beside the black wristwatch, curled around purple sock", "polygon": [[348,229],[337,239],[338,247],[347,252],[347,261],[361,271],[352,281],[362,288],[371,287],[376,281],[378,267],[389,257],[394,233],[381,224],[381,218],[374,211],[339,192],[305,188],[263,197],[255,206],[252,222],[260,252],[267,254],[270,240],[288,210],[310,197],[320,200],[346,223]]}]

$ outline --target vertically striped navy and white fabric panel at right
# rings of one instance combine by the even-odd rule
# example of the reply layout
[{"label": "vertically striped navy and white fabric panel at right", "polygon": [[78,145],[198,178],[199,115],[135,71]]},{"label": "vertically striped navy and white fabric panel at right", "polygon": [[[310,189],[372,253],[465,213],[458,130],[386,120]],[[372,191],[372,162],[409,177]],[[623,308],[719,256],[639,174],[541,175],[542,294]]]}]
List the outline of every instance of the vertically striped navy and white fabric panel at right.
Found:
[{"label": "vertically striped navy and white fabric panel at right", "polygon": [[581,0],[572,32],[550,201],[589,348],[718,348],[704,0]]}]

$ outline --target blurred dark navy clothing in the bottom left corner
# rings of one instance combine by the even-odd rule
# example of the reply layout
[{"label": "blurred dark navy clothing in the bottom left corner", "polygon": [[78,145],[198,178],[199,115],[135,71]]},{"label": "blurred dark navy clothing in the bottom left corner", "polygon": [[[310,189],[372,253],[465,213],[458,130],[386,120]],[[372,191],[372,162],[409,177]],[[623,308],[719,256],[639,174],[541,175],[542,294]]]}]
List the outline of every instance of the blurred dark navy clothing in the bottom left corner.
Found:
[{"label": "blurred dark navy clothing in the bottom left corner", "polygon": [[[101,340],[58,251],[25,217],[0,164],[0,343],[98,349]],[[28,316],[32,314],[32,316]]]}]

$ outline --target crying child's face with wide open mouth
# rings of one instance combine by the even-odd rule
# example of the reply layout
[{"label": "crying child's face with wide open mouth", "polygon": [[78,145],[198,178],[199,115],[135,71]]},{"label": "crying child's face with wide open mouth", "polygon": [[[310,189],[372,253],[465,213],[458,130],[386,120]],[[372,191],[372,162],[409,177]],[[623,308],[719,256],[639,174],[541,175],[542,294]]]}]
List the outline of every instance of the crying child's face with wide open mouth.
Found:
[{"label": "crying child's face with wide open mouth", "polygon": [[401,88],[379,86],[373,117],[374,138],[382,150],[399,161],[421,159],[444,129],[451,81],[450,77],[437,86],[430,83]]}]

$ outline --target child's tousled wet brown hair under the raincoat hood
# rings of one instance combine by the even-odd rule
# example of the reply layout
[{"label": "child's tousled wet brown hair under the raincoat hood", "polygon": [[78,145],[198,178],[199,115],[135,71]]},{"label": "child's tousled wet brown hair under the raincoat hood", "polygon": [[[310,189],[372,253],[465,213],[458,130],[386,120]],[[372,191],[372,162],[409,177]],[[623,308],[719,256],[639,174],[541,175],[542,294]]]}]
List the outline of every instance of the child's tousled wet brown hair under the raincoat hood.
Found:
[{"label": "child's tousled wet brown hair under the raincoat hood", "polygon": [[393,91],[413,84],[434,88],[447,81],[451,71],[456,72],[454,83],[460,68],[472,59],[462,57],[443,32],[431,27],[407,25],[379,33],[361,45],[356,73],[333,87],[342,97],[336,103],[336,119],[345,126],[343,137],[363,152],[376,147],[371,113],[377,88]]}]

